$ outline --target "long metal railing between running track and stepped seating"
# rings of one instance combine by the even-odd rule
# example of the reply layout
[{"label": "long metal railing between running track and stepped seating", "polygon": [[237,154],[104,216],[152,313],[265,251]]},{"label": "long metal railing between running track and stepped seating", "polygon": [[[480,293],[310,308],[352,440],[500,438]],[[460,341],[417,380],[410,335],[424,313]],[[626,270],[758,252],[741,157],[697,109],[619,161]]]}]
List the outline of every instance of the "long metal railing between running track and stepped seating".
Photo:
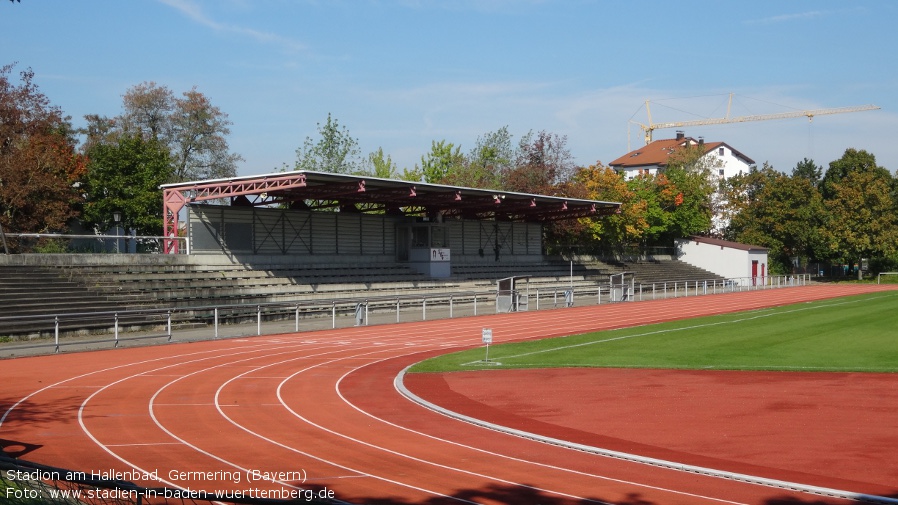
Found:
[{"label": "long metal railing between running track and stepped seating", "polygon": [[[524,310],[702,296],[802,286],[810,275],[656,282],[530,286]],[[625,290],[625,291],[622,291]],[[621,296],[626,293],[626,296]],[[119,347],[132,341],[164,342],[298,333],[369,324],[427,321],[496,313],[496,290],[268,303],[217,304],[102,312],[0,316],[0,356],[67,345]],[[22,337],[28,340],[21,341]]]}]

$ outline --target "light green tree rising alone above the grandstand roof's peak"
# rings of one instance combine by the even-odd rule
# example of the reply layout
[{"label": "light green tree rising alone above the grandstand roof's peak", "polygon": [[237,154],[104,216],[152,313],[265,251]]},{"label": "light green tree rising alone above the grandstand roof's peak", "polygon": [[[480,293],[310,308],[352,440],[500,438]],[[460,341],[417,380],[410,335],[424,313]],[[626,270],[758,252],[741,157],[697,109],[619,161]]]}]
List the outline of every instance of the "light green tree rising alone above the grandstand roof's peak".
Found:
[{"label": "light green tree rising alone above the grandstand roof's peak", "polygon": [[364,171],[359,142],[349,134],[345,126],[327,115],[327,122],[318,123],[317,142],[306,137],[302,147],[296,150],[296,170],[329,172],[334,174],[360,174]]}]

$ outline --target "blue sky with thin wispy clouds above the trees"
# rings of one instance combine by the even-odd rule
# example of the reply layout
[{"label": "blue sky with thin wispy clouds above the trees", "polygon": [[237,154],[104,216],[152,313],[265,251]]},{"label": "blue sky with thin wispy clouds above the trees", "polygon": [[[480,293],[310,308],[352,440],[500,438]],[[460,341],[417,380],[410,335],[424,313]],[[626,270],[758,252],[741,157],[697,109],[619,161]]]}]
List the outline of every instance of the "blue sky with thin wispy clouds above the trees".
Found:
[{"label": "blue sky with thin wispy clouds above the trees", "polygon": [[725,115],[729,93],[733,116],[882,110],[686,134],[785,172],[853,147],[894,173],[896,22],[886,0],[3,0],[0,65],[33,69],[76,126],[139,83],[196,86],[233,122],[239,175],[292,167],[328,113],[400,170],[503,126],[608,163],[641,145],[646,100],[655,122],[691,120]]}]

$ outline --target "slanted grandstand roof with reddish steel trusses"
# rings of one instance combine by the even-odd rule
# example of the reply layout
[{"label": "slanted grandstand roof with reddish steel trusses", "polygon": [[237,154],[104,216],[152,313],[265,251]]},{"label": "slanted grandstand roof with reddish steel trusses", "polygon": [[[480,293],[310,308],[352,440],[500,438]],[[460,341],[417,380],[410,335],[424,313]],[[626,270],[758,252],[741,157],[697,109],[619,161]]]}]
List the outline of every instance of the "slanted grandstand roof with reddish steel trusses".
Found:
[{"label": "slanted grandstand roof with reddish steel trusses", "polygon": [[286,204],[307,210],[557,221],[614,214],[620,208],[617,202],[311,171],[182,182],[161,188],[169,212],[193,202],[230,200],[231,205],[242,206]]}]

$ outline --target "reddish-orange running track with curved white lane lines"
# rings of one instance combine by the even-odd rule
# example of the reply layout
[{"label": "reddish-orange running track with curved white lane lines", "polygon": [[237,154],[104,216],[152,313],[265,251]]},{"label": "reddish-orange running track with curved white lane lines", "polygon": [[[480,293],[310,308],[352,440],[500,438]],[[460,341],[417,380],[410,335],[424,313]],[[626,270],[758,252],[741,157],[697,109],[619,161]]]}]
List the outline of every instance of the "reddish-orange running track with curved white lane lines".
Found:
[{"label": "reddish-orange running track with curved white lane lines", "polygon": [[[808,286],[6,360],[0,444],[57,467],[156,472],[168,486],[327,489],[350,503],[844,503],[487,430],[407,400],[393,380],[428,356],[479,345],[483,327],[498,343],[876,289]],[[247,482],[252,470],[271,473]],[[179,473],[188,471],[219,475]],[[240,482],[222,478],[236,471]]]}]

